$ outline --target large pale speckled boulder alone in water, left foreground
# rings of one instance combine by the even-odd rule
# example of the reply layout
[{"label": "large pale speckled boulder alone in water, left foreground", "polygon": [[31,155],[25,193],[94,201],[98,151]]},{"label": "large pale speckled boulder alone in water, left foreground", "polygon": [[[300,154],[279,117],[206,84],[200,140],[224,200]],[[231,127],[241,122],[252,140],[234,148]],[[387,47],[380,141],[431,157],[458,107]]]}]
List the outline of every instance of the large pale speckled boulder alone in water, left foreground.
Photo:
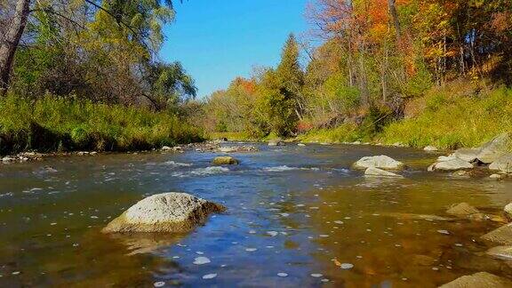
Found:
[{"label": "large pale speckled boulder alone in water, left foreground", "polygon": [[226,208],[186,193],[148,196],[108,223],[103,233],[188,232],[204,224],[210,213]]}]

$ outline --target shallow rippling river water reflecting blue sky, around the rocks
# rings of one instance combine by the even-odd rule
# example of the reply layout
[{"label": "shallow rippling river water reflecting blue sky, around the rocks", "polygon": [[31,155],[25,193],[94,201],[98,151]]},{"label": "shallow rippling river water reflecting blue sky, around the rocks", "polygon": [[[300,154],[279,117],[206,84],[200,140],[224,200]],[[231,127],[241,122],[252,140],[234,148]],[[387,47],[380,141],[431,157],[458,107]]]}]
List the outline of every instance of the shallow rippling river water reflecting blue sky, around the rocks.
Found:
[{"label": "shallow rippling river water reflecting blue sky, around the rocks", "polygon": [[[232,144],[229,144],[232,145]],[[437,154],[321,146],[234,154],[113,154],[0,165],[0,286],[436,287],[479,271],[512,276],[451,204],[500,213],[512,182],[426,172]],[[350,169],[362,156],[408,165],[405,179]],[[106,236],[145,196],[180,191],[224,204],[188,235]]]}]

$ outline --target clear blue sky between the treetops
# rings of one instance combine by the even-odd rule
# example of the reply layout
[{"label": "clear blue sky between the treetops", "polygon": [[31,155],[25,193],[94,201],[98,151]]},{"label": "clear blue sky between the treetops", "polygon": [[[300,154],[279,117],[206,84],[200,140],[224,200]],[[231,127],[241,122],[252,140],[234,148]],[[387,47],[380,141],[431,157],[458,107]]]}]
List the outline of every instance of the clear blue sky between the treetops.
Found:
[{"label": "clear blue sky between the treetops", "polygon": [[200,98],[224,89],[254,66],[275,66],[291,33],[308,29],[308,0],[176,1],[176,20],[164,28],[162,60],[179,60],[196,79]]}]

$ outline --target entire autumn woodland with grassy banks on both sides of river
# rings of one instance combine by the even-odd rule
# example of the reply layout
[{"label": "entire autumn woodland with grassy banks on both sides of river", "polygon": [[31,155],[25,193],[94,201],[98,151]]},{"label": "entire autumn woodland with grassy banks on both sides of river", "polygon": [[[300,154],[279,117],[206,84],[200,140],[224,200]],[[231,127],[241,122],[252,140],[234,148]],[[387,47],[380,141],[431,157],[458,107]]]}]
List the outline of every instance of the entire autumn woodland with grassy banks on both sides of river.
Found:
[{"label": "entire autumn woodland with grassy banks on both sides of river", "polygon": [[276,67],[196,99],[158,57],[172,1],[2,0],[0,151],[219,136],[459,148],[512,127],[510,1],[314,0],[304,15]]}]

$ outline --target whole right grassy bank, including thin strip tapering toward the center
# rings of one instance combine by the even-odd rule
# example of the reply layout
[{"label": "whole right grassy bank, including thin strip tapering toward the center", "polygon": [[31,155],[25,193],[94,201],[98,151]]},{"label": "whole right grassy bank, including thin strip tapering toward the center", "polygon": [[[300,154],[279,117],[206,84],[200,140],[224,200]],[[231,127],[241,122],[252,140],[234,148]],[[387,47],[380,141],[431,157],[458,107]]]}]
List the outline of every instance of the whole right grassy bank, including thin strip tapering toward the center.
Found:
[{"label": "whole right grassy bank, including thin strip tapering toward the center", "polygon": [[416,148],[476,147],[502,132],[512,131],[512,89],[497,88],[476,94],[470,85],[452,84],[411,100],[406,114],[405,119],[376,133],[343,124],[308,132],[300,135],[299,140],[402,142]]}]

